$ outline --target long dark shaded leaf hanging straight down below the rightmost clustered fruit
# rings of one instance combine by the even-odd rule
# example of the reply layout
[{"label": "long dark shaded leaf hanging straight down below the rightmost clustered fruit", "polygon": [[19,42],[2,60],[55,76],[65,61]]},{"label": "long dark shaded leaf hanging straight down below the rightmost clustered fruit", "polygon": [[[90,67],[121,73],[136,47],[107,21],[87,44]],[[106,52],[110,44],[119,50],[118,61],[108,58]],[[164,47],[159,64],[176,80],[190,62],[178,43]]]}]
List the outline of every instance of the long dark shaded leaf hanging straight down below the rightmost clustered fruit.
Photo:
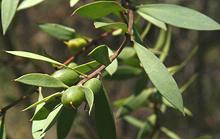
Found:
[{"label": "long dark shaded leaf hanging straight down below the rightmost clustered fruit", "polygon": [[113,113],[104,87],[95,95],[95,123],[100,139],[116,139]]}]

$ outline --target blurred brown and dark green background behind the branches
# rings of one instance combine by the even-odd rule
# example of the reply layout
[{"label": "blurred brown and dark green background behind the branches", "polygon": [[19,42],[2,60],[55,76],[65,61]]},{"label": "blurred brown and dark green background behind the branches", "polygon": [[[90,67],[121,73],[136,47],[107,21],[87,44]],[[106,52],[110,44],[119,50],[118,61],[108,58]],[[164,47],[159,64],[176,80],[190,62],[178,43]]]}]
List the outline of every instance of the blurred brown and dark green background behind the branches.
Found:
[{"label": "blurred brown and dark green background behind the branches", "polygon": [[[24,50],[38,54],[48,55],[59,61],[65,61],[71,53],[63,42],[58,41],[42,32],[38,25],[41,23],[58,23],[73,27],[77,32],[91,38],[98,37],[102,31],[95,29],[93,22],[79,16],[70,16],[73,9],[87,3],[89,0],[81,0],[74,8],[69,7],[68,0],[46,0],[42,4],[16,14],[13,25],[10,26],[5,36],[0,34],[0,106],[3,107],[22,95],[34,91],[35,88],[13,82],[13,79],[29,72],[52,73],[55,69],[49,65],[12,57],[4,50]],[[219,0],[148,0],[138,3],[175,3],[191,7],[220,22]],[[141,25],[142,26],[142,25]],[[144,26],[144,24],[143,24]],[[159,30],[151,29],[146,43],[154,45]],[[194,47],[198,52],[193,60],[179,73],[175,75],[179,85],[187,81],[194,73],[198,73],[197,80],[183,94],[184,104],[192,111],[193,117],[183,117],[174,110],[169,110],[162,123],[169,129],[174,130],[182,138],[190,139],[200,135],[211,135],[220,138],[220,32],[196,32],[173,28],[172,46],[165,64],[169,67],[181,63]],[[110,46],[119,44],[121,38],[108,37]],[[80,63],[86,54],[77,58]],[[133,93],[136,79],[126,81],[106,81],[111,100],[128,96]],[[31,122],[29,121],[32,111],[21,110],[36,101],[37,95],[22,102],[7,112],[6,129],[10,139],[31,138]],[[148,113],[142,109],[132,115],[142,118]],[[86,120],[85,120],[86,119]],[[91,123],[91,124],[90,124]],[[133,139],[137,129],[131,127],[122,120],[117,120],[117,132],[119,137]],[[93,123],[88,115],[82,110],[78,116],[74,128],[68,138],[84,139],[95,138]],[[52,129],[46,138],[55,138],[56,129]],[[162,137],[165,138],[165,137]]]}]

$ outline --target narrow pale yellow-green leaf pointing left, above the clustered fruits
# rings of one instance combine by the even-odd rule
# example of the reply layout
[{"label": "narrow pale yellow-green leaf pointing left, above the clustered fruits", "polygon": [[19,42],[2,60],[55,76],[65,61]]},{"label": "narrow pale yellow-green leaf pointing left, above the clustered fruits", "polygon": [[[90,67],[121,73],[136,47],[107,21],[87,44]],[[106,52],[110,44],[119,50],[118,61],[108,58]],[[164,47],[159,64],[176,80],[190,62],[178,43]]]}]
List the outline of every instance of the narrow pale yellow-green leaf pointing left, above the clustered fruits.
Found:
[{"label": "narrow pale yellow-green leaf pointing left, above the clustered fruits", "polygon": [[60,62],[57,62],[57,61],[55,61],[53,59],[50,59],[50,58],[47,58],[45,56],[41,56],[41,55],[38,55],[38,54],[30,53],[30,52],[25,52],[25,51],[6,51],[6,53],[9,53],[9,54],[12,54],[12,55],[15,55],[15,56],[24,57],[24,58],[45,61],[45,62],[48,62],[48,63],[60,65],[60,66],[65,66],[64,64],[62,64]]}]

